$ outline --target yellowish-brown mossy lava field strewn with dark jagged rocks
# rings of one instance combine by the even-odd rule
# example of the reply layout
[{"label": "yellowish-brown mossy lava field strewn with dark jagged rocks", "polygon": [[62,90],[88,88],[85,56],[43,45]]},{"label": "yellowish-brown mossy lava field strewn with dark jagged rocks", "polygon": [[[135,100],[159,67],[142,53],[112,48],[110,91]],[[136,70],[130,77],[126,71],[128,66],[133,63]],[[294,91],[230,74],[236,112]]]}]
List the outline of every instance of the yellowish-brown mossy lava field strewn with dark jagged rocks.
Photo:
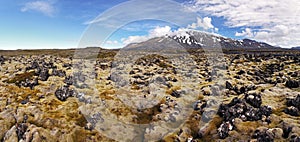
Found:
[{"label": "yellowish-brown mossy lava field strewn with dark jagged rocks", "polygon": [[300,141],[299,51],[74,52],[0,52],[1,141]]}]

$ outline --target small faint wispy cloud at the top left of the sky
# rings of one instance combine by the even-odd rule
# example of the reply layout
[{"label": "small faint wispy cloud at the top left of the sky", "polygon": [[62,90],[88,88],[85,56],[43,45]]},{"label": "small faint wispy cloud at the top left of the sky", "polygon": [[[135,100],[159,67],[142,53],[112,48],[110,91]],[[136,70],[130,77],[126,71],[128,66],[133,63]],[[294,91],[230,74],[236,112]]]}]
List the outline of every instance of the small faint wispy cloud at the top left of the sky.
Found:
[{"label": "small faint wispy cloud at the top left of the sky", "polygon": [[27,2],[25,5],[21,8],[22,12],[27,11],[38,11],[41,12],[47,16],[53,16],[55,12],[55,8],[53,6],[53,2],[51,1],[33,1],[33,2]]}]

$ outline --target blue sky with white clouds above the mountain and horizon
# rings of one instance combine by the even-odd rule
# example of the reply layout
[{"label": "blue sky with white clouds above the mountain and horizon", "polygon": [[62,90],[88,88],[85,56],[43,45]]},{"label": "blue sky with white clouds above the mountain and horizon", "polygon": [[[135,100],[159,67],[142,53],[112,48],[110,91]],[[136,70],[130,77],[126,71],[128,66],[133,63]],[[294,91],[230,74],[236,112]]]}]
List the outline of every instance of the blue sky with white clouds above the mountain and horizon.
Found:
[{"label": "blue sky with white clouds above the mountain and horizon", "polygon": [[121,48],[190,29],[300,46],[299,0],[1,0],[0,5],[5,50]]}]

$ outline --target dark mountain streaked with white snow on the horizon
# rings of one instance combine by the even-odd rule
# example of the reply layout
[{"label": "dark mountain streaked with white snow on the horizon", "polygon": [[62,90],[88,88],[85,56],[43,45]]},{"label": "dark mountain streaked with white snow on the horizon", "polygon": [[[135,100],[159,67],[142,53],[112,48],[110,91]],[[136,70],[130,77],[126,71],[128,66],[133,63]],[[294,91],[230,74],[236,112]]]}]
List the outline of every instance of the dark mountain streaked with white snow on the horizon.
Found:
[{"label": "dark mountain streaked with white snow on the horizon", "polygon": [[264,42],[251,39],[234,40],[214,33],[200,31],[180,31],[171,35],[149,39],[145,42],[129,44],[125,48],[142,47],[175,47],[185,48],[278,48]]}]

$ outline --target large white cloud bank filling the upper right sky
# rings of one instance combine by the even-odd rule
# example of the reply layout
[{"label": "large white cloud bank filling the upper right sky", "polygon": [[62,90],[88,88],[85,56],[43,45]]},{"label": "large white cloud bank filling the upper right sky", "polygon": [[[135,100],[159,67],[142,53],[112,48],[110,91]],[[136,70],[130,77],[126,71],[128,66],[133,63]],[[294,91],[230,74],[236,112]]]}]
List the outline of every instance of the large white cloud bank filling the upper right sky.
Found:
[{"label": "large white cloud bank filling the upper right sky", "polygon": [[224,18],[226,26],[249,28],[237,36],[283,47],[300,45],[299,7],[299,0],[194,0],[187,4],[191,11]]}]

